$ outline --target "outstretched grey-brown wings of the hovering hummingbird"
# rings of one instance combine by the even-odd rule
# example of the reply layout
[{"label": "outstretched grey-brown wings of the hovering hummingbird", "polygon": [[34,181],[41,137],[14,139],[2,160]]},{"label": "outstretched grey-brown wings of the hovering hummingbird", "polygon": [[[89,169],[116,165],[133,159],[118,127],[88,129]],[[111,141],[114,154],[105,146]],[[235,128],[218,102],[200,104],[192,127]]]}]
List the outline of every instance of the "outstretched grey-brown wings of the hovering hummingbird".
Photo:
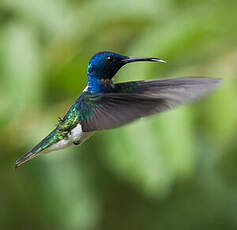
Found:
[{"label": "outstretched grey-brown wings of the hovering hummingbird", "polygon": [[82,130],[119,127],[200,98],[219,83],[216,78],[166,78],[115,84],[104,94],[88,93],[79,110]]}]

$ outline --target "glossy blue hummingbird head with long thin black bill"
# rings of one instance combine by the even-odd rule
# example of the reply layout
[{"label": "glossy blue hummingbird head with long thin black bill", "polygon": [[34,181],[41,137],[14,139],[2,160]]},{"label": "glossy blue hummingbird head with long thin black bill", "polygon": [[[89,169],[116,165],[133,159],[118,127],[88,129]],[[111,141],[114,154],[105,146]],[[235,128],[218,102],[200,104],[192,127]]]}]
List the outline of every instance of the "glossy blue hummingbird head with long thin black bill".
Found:
[{"label": "glossy blue hummingbird head with long thin black bill", "polygon": [[137,61],[165,63],[165,61],[153,57],[128,57],[113,52],[99,52],[89,61],[87,75],[97,79],[112,79],[122,66]]}]

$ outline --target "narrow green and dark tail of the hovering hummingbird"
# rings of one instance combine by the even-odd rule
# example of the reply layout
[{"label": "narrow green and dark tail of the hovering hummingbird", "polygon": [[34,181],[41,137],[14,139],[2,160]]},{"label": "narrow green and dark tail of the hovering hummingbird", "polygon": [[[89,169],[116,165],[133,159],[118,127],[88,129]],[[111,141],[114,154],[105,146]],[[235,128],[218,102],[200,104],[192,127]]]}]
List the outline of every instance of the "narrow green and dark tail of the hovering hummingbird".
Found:
[{"label": "narrow green and dark tail of the hovering hummingbird", "polygon": [[[25,153],[22,157],[20,157],[16,162],[15,162],[15,168],[19,167],[26,161],[29,161],[30,159],[34,158],[37,156],[39,153],[42,152],[50,152],[54,150],[50,149],[50,147],[53,144],[56,144],[60,140],[63,139],[62,134],[60,133],[59,130],[54,129],[47,137],[45,137],[39,144],[37,144],[34,148],[32,148],[30,151]],[[56,149],[56,148],[55,148]]]}]

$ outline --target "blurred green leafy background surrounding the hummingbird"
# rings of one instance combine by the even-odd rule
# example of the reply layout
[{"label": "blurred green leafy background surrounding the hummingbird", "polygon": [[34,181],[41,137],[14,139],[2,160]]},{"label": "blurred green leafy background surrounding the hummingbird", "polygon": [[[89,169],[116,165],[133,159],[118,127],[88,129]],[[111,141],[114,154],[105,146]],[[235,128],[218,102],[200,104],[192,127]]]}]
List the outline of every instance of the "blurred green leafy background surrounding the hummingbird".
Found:
[{"label": "blurred green leafy background surrounding the hummingbird", "polygon": [[[0,229],[237,229],[236,9],[236,0],[1,0]],[[168,61],[128,65],[116,81],[224,82],[15,170],[102,50]]]}]

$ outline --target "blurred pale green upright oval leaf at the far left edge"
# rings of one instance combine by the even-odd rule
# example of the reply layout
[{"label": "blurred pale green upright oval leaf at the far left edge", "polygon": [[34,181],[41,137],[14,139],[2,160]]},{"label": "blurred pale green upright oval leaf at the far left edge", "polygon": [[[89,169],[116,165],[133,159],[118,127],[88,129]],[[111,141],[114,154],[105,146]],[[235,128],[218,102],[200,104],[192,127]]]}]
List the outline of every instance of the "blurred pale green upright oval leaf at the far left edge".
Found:
[{"label": "blurred pale green upright oval leaf at the far left edge", "polygon": [[4,86],[8,95],[8,118],[20,117],[33,109],[41,97],[40,51],[34,32],[19,23],[4,34]]}]

